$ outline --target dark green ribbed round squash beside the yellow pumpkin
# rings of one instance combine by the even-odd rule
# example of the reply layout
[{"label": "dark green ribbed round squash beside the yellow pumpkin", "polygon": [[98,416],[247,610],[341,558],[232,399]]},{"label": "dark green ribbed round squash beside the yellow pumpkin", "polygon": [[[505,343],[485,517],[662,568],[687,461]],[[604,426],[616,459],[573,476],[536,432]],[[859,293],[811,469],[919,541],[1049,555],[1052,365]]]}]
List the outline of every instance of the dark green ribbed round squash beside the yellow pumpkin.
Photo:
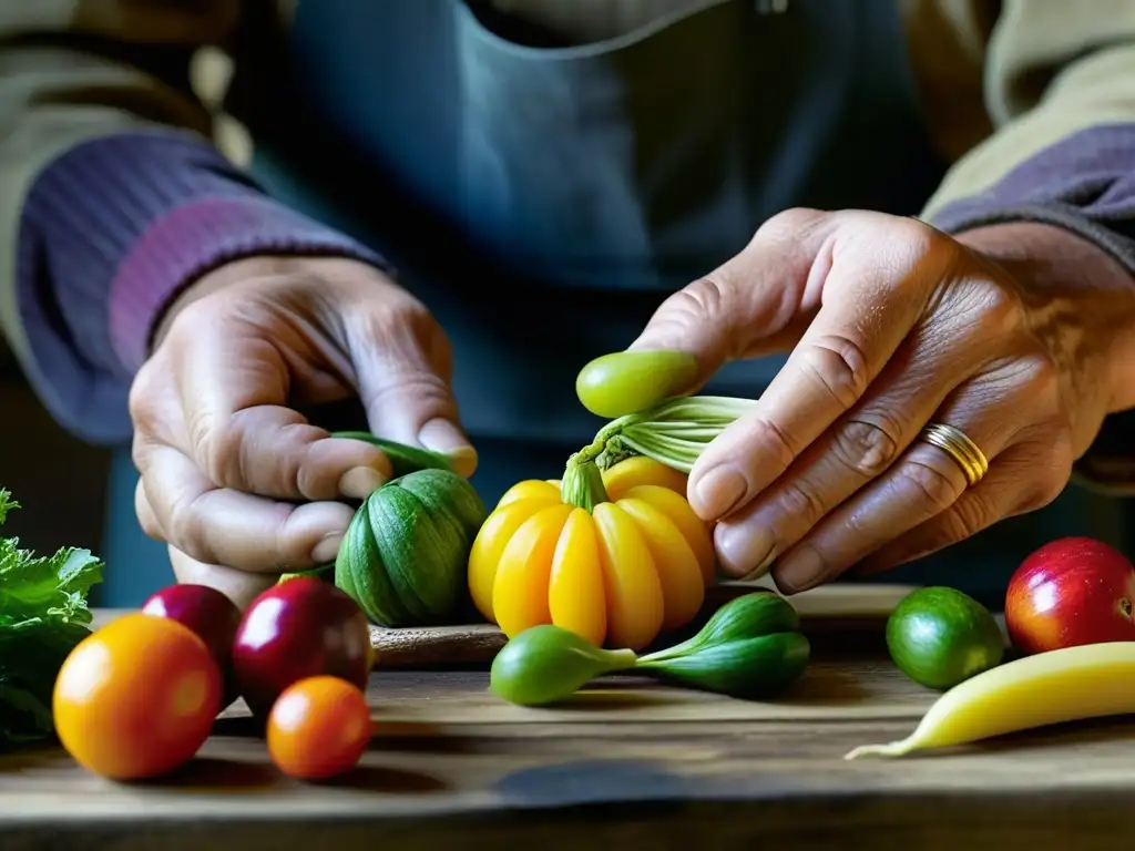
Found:
[{"label": "dark green ribbed round squash beside the yellow pumpkin", "polygon": [[485,522],[472,485],[417,470],[375,490],[355,512],[335,561],[335,584],[381,626],[449,620],[466,589],[469,550]]}]

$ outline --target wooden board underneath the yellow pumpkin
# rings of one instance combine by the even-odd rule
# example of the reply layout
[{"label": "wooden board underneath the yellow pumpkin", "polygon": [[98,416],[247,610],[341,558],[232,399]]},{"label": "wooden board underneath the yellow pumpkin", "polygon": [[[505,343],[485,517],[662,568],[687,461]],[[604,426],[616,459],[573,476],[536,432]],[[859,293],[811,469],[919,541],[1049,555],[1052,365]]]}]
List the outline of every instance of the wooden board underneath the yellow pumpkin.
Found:
[{"label": "wooden board underneath the yellow pumpkin", "polygon": [[[723,604],[743,593],[773,589],[768,579],[757,582],[729,582],[712,589],[699,618],[688,631],[670,635],[675,643],[695,631]],[[878,632],[896,604],[914,590],[913,585],[823,585],[796,595],[792,605],[800,613],[806,631]],[[95,625],[102,625],[125,614],[123,609],[99,609]],[[423,668],[453,665],[484,665],[493,660],[507,639],[493,624],[471,623],[454,626],[405,629],[370,627],[377,668]]]}]

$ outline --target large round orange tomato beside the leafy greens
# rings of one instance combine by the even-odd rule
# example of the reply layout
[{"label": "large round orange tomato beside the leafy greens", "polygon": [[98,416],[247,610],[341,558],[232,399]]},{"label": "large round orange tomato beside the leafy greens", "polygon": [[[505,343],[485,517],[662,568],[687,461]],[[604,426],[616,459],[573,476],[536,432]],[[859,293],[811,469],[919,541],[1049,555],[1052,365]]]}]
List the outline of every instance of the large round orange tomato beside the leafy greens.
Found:
[{"label": "large round orange tomato beside the leafy greens", "polygon": [[197,752],[220,710],[222,676],[187,626],[142,613],[83,639],[52,696],[56,733],[90,772],[143,780]]}]

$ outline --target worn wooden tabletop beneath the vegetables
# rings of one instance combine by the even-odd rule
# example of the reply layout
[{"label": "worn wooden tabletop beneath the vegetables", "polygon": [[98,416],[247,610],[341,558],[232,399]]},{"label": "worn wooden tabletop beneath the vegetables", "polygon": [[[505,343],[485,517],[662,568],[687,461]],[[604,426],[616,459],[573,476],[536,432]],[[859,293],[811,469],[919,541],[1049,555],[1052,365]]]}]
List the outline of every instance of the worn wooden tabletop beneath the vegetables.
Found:
[{"label": "worn wooden tabletop beneath the vegetables", "polygon": [[[882,626],[882,623],[880,623]],[[1130,849],[1135,724],[847,762],[935,694],[881,631],[817,630],[776,702],[604,681],[524,709],[473,671],[385,671],[358,770],[280,776],[238,707],[175,776],[118,785],[54,749],[0,757],[0,849]]]}]

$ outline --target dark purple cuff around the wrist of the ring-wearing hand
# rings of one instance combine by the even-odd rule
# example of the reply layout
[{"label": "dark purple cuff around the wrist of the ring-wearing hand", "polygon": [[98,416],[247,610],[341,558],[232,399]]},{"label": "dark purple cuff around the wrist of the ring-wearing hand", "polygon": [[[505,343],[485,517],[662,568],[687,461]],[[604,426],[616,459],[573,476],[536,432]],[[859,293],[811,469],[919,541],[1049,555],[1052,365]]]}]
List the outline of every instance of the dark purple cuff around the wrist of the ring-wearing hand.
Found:
[{"label": "dark purple cuff around the wrist of the ring-wearing hand", "polygon": [[[1066,228],[1135,276],[1135,123],[1090,127],[1046,148],[985,192],[944,207],[931,224],[949,233],[1009,221]],[[1135,286],[1135,277],[1132,279]],[[1109,416],[1077,475],[1132,492],[1135,412]]]}]

